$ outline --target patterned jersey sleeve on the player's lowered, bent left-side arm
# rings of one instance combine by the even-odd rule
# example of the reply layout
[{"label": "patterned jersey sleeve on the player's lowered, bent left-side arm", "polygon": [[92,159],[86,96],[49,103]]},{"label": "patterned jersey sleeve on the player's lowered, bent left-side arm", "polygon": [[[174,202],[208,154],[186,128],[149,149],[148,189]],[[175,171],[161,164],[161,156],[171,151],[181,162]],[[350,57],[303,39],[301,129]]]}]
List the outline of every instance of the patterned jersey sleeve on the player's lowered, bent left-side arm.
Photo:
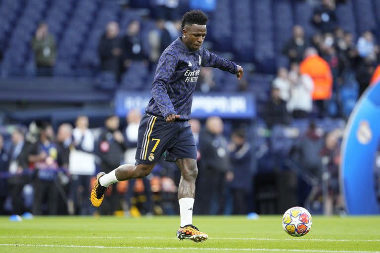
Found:
[{"label": "patterned jersey sleeve on the player's lowered, bent left-side arm", "polygon": [[162,116],[166,119],[170,114],[177,114],[168,95],[167,86],[177,67],[177,59],[168,53],[161,55],[152,84],[152,95]]}]

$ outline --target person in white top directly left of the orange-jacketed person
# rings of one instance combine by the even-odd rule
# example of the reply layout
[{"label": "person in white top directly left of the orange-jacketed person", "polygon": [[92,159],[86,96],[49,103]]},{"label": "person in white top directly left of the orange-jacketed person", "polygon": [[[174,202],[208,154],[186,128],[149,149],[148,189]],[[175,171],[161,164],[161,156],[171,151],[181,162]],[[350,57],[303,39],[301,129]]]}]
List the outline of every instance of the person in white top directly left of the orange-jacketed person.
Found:
[{"label": "person in white top directly left of the orange-jacketed person", "polygon": [[301,74],[297,63],[291,64],[289,73],[290,98],[286,108],[294,119],[307,118],[313,109],[314,82],[309,75]]}]

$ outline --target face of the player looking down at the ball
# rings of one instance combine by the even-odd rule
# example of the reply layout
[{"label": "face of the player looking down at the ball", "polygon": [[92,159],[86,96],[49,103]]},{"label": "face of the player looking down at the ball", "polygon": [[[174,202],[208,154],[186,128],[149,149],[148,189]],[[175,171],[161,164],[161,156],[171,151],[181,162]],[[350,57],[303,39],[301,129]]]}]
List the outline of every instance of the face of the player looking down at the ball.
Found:
[{"label": "face of the player looking down at the ball", "polygon": [[207,29],[205,25],[191,24],[185,25],[182,33],[185,36],[185,44],[191,50],[198,50],[206,37]]}]

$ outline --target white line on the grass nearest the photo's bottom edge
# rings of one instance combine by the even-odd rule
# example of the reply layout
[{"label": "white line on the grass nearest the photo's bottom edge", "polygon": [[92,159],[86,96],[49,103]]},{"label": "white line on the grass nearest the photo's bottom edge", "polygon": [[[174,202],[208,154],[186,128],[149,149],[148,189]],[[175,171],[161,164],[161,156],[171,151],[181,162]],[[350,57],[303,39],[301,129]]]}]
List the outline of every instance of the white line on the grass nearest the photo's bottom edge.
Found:
[{"label": "white line on the grass nearest the photo's bottom edge", "polygon": [[47,247],[47,248],[88,248],[88,249],[123,249],[123,250],[197,250],[197,251],[253,251],[253,252],[316,252],[316,253],[380,253],[378,251],[326,251],[326,250],[290,250],[290,249],[234,249],[234,248],[172,248],[172,247],[114,247],[90,245],[48,245],[48,244],[0,244],[14,247]]}]

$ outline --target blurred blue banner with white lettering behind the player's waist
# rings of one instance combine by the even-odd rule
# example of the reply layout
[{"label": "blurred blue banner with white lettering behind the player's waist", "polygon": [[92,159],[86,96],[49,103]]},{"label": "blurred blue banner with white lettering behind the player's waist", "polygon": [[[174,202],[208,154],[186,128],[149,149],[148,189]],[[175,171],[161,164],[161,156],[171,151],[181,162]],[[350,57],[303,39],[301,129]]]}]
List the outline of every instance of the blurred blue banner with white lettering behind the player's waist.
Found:
[{"label": "blurred blue banner with white lettering behind the player's waist", "polygon": [[[115,98],[116,114],[125,117],[129,110],[145,110],[151,98],[150,92],[118,91]],[[209,116],[227,119],[253,119],[256,103],[252,93],[194,93],[191,117],[204,119]]]}]

